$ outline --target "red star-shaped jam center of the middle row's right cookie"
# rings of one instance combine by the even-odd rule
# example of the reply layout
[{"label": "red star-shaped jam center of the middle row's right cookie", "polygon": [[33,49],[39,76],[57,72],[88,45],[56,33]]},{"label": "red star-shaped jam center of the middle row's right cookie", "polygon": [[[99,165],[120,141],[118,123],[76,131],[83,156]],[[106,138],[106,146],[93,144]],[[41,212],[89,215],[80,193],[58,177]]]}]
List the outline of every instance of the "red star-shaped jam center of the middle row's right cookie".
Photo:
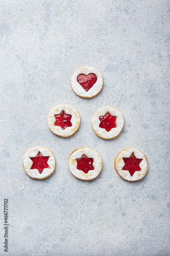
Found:
[{"label": "red star-shaped jam center of the middle row's right cookie", "polygon": [[99,117],[101,121],[99,127],[105,129],[107,132],[110,132],[112,128],[117,127],[116,118],[116,116],[112,116],[109,112],[107,112],[105,116]]}]

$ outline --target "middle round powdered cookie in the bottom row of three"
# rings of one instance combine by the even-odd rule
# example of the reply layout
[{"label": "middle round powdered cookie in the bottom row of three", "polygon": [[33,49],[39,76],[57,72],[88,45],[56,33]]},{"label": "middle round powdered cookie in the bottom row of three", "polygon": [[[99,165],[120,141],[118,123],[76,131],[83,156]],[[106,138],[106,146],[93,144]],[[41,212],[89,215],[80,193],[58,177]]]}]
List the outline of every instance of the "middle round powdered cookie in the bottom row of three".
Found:
[{"label": "middle round powdered cookie in the bottom row of three", "polygon": [[88,147],[82,147],[71,153],[68,166],[71,174],[76,178],[92,180],[102,170],[102,159],[96,151]]}]

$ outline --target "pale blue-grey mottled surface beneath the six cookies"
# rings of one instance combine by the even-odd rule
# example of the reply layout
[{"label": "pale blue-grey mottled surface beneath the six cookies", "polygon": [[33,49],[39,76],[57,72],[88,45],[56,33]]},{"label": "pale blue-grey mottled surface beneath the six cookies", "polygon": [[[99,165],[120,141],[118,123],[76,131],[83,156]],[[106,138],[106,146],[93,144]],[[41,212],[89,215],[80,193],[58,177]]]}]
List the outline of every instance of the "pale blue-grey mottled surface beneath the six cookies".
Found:
[{"label": "pale blue-grey mottled surface beneath the six cookies", "polygon": [[[3,202],[9,199],[12,256],[170,255],[168,152],[168,1],[1,0],[1,249]],[[77,68],[104,78],[93,99],[70,87]],[[47,126],[57,104],[81,116],[71,138]],[[93,113],[111,105],[123,132],[105,141],[92,130]],[[30,147],[56,157],[54,175],[29,178],[22,167]],[[68,157],[90,147],[102,157],[94,181],[76,179]],[[114,169],[116,155],[135,147],[148,158],[147,176],[128,183]]]}]

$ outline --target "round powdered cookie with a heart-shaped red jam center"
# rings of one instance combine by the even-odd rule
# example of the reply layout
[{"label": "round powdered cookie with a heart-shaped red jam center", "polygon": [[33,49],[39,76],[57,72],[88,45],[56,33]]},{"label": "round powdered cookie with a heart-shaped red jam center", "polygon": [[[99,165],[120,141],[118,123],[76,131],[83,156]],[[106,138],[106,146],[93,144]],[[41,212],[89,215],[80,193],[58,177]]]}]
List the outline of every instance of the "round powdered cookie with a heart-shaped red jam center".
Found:
[{"label": "round powdered cookie with a heart-shaped red jam center", "polygon": [[72,75],[71,87],[80,97],[91,98],[102,90],[103,77],[98,70],[92,67],[82,67]]}]

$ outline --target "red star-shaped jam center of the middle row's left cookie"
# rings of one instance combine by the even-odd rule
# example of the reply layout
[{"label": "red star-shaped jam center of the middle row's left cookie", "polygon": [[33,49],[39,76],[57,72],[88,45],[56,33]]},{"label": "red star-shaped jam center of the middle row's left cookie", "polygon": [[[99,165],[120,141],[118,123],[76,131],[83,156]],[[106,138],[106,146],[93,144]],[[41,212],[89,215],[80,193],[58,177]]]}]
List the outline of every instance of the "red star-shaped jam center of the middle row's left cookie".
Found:
[{"label": "red star-shaped jam center of the middle row's left cookie", "polygon": [[66,127],[72,126],[71,115],[66,114],[64,110],[61,111],[59,115],[55,115],[56,121],[55,126],[60,126],[62,130],[66,129]]}]

